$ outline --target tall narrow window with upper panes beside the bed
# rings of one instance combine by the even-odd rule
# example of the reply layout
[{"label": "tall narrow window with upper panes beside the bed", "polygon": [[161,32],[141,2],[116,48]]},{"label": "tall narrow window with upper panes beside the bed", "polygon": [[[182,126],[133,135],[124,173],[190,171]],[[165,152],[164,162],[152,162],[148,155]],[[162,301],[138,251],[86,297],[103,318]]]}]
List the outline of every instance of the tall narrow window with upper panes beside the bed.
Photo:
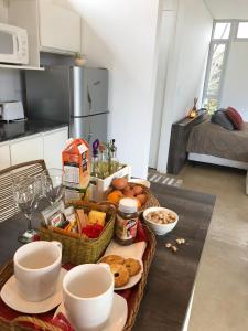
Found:
[{"label": "tall narrow window with upper panes beside the bed", "polygon": [[244,40],[248,41],[248,21],[214,22],[202,100],[209,114],[219,107],[229,44]]}]

